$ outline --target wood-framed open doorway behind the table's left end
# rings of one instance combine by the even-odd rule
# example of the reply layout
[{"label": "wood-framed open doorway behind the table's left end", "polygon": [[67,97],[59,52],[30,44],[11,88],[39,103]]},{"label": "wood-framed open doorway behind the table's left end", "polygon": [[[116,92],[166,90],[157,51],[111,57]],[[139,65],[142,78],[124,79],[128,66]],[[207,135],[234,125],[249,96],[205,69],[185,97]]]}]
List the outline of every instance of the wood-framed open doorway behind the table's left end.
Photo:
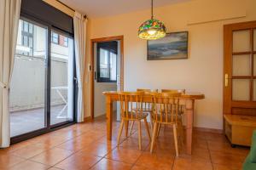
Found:
[{"label": "wood-framed open doorway behind the table's left end", "polygon": [[[104,91],[121,91],[124,84],[123,36],[91,40],[90,117],[106,113]],[[119,104],[113,105],[119,119]]]}]

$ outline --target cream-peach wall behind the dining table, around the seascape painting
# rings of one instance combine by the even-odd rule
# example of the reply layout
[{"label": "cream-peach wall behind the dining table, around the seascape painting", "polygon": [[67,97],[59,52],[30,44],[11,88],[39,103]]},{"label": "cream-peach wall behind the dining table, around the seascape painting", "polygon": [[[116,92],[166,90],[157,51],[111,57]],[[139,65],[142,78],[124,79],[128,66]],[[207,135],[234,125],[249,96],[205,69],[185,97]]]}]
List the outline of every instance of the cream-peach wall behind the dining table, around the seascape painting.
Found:
[{"label": "cream-peach wall behind the dining table, around the seascape painting", "polygon": [[[137,29],[150,18],[149,10],[91,19],[87,35],[88,40],[124,35],[125,90],[185,88],[201,92],[206,99],[195,102],[194,126],[221,129],[223,26],[256,20],[255,8],[255,0],[194,0],[155,8],[155,18],[165,22],[167,31],[189,31],[189,59],[147,60],[147,42],[137,37]],[[86,62],[90,63],[87,44]],[[85,77],[88,74],[86,71]],[[86,92],[90,81],[85,82]],[[90,93],[85,95],[85,116],[90,116]]]}]

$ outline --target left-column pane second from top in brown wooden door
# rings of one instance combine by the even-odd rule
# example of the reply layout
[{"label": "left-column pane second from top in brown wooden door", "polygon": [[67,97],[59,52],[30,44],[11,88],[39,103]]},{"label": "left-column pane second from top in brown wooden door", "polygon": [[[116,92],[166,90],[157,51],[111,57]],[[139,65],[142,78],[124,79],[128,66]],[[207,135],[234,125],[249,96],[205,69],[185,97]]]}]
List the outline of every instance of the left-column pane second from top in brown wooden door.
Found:
[{"label": "left-column pane second from top in brown wooden door", "polygon": [[233,55],[233,77],[251,76],[250,55]]}]

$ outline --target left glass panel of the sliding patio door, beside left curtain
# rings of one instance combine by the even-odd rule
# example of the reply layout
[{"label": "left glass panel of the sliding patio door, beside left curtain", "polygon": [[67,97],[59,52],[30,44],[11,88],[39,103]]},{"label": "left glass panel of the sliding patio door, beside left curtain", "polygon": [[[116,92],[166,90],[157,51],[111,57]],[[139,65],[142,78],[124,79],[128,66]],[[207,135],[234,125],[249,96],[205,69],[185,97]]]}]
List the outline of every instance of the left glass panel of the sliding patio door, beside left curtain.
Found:
[{"label": "left glass panel of the sliding patio door, beside left curtain", "polygon": [[9,94],[11,137],[46,127],[47,33],[47,28],[34,22],[19,21]]}]

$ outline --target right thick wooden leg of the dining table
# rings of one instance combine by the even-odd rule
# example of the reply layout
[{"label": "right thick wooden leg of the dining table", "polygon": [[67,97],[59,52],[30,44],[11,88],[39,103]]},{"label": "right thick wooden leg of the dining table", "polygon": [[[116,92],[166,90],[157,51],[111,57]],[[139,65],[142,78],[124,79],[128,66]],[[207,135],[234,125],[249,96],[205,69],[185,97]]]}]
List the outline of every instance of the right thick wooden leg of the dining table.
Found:
[{"label": "right thick wooden leg of the dining table", "polygon": [[193,133],[193,119],[194,119],[194,99],[187,99],[186,100],[186,150],[187,154],[192,154],[192,133]]}]

